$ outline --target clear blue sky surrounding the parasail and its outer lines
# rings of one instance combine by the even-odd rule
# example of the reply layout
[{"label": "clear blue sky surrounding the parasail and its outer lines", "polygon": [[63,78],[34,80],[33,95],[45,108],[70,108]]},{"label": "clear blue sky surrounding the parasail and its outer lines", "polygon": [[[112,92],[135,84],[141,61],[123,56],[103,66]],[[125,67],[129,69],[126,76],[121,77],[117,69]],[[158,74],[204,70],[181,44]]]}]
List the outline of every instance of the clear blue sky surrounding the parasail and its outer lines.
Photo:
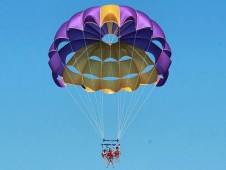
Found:
[{"label": "clear blue sky surrounding the parasail and its outer lines", "polygon": [[53,83],[47,54],[56,30],[74,13],[111,3],[148,14],[173,51],[168,82],[123,136],[115,169],[224,170],[224,0],[1,0],[0,169],[105,169],[100,139],[66,89]]}]

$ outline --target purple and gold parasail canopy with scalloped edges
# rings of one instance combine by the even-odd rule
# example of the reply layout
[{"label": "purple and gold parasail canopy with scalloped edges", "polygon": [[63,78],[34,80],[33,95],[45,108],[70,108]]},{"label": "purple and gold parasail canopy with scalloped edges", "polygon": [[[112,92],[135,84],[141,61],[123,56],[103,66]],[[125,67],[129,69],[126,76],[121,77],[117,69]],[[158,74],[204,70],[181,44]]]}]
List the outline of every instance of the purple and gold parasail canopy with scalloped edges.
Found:
[{"label": "purple and gold parasail canopy with scalloped edges", "polygon": [[[59,28],[49,50],[49,66],[59,87],[70,84],[87,92],[117,94],[134,92],[142,85],[163,86],[170,57],[169,44],[155,21],[128,6],[105,5],[76,13]],[[77,97],[73,100],[86,114]],[[95,112],[92,107],[87,110]],[[91,118],[103,138],[103,123],[97,121],[103,115]],[[123,133],[118,134],[120,138]]]}]

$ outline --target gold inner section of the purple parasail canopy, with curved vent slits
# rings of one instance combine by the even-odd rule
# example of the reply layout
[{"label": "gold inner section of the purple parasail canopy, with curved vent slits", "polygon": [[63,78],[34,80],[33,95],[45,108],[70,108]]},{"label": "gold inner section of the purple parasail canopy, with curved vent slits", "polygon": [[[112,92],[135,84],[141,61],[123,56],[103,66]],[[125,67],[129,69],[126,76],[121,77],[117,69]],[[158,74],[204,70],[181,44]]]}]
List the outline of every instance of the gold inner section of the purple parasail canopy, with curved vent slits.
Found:
[{"label": "gold inner section of the purple parasail canopy, with curved vent slits", "polygon": [[[153,67],[146,71],[148,66]],[[129,77],[131,74],[133,77]],[[63,73],[65,83],[81,85],[88,92],[102,90],[108,94],[119,90],[132,92],[140,85],[155,83],[157,78],[154,63],[142,49],[119,42],[112,45],[98,42],[81,48],[67,62]]]}]

